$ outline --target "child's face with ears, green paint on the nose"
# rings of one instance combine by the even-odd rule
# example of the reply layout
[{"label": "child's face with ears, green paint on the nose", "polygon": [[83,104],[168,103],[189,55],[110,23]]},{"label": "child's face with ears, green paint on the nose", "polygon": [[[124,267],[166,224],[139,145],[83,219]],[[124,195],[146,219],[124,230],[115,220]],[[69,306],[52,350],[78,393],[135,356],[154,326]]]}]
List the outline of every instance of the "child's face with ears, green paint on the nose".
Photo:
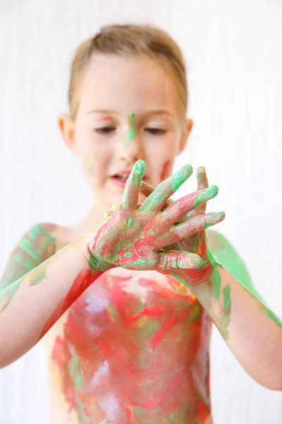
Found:
[{"label": "child's face with ears, green paint on the nose", "polygon": [[[135,114],[131,139],[130,112]],[[61,114],[59,126],[80,158],[95,204],[106,210],[120,200],[137,159],[145,160],[144,179],[154,187],[171,174],[192,122],[183,129],[173,79],[157,61],[96,54],[81,81],[75,121]]]}]

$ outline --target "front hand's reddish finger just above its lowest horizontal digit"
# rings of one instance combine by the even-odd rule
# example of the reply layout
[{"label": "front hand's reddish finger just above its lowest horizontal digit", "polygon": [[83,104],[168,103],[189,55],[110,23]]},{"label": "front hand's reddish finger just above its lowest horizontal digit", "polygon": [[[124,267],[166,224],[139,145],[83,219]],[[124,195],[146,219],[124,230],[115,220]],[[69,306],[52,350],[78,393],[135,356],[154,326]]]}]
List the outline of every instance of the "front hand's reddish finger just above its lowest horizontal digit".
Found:
[{"label": "front hand's reddish finger just above its lowest horizontal digit", "polygon": [[196,232],[207,230],[212,225],[220,223],[225,218],[224,212],[205,213],[190,219],[182,220],[179,224],[173,225],[171,231],[157,237],[156,243],[159,247],[168,246],[172,243],[190,237]]}]

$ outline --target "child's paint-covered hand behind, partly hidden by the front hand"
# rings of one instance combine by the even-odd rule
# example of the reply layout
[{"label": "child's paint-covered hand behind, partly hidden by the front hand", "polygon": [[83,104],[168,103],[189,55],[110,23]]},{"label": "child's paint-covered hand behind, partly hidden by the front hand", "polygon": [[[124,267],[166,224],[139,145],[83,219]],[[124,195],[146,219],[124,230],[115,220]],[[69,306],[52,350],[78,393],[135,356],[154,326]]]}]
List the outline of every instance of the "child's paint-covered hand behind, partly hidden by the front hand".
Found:
[{"label": "child's paint-covered hand behind, partly hidden by the front hand", "polygon": [[[206,202],[216,196],[218,190],[216,186],[209,187],[207,174],[204,167],[197,168],[197,189],[197,192],[188,194],[187,196],[184,196],[182,199],[180,199],[180,201],[182,201],[185,198],[189,199],[191,196],[194,196],[195,199],[197,199],[197,202],[195,202],[195,206],[197,207],[195,207],[192,211],[188,212],[185,215],[185,220],[195,219],[195,217],[197,216],[200,217],[211,215],[205,213],[207,206]],[[152,194],[152,192],[154,192],[154,187],[149,186],[149,184],[146,184],[145,182],[141,183],[140,193],[142,193],[144,196],[149,196],[150,194]],[[167,210],[169,210],[169,208],[173,206],[177,206],[178,202],[179,201],[173,202],[171,199],[168,199],[168,201],[166,202]],[[173,204],[173,206],[171,204]],[[220,222],[224,218],[225,214],[221,213],[221,219],[218,222]],[[210,260],[211,255],[209,254],[207,238],[204,230],[194,232],[189,237],[183,238],[178,242],[174,242],[172,245],[168,246],[167,249],[176,249],[185,252],[192,252],[198,254],[201,257],[202,266],[200,269],[197,269],[195,271],[191,270],[190,276],[192,278],[192,281],[190,283],[199,284],[209,278],[210,274],[212,273],[213,265]],[[186,273],[186,276],[188,276],[188,274],[189,272]],[[187,278],[185,279],[187,280]]]}]

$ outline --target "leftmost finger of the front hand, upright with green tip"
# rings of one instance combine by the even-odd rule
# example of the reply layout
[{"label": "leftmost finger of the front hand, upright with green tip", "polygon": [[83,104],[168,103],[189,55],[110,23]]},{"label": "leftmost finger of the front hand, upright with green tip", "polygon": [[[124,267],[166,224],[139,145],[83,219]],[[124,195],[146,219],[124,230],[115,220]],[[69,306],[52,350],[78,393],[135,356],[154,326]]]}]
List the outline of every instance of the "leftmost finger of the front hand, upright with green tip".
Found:
[{"label": "leftmost finger of the front hand, upright with green tip", "polygon": [[137,160],[126,181],[123,196],[121,199],[121,208],[131,209],[137,206],[139,197],[140,183],[145,172],[144,160]]}]

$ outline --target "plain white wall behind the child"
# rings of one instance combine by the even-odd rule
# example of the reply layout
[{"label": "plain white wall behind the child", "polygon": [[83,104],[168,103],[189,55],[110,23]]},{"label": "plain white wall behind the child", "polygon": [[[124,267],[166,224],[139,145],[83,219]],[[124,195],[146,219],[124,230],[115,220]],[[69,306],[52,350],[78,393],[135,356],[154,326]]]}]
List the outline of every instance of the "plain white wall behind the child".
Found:
[{"label": "plain white wall behind the child", "polygon": [[[183,48],[195,127],[177,165],[207,167],[220,187],[209,211],[226,211],[219,230],[282,316],[280,0],[1,0],[1,270],[30,225],[71,225],[90,205],[56,115],[74,47],[102,24],[128,21],[157,24]],[[41,343],[0,371],[1,424],[47,424],[45,372]],[[212,403],[215,424],[282,423],[282,394],[252,381],[217,331]]]}]

